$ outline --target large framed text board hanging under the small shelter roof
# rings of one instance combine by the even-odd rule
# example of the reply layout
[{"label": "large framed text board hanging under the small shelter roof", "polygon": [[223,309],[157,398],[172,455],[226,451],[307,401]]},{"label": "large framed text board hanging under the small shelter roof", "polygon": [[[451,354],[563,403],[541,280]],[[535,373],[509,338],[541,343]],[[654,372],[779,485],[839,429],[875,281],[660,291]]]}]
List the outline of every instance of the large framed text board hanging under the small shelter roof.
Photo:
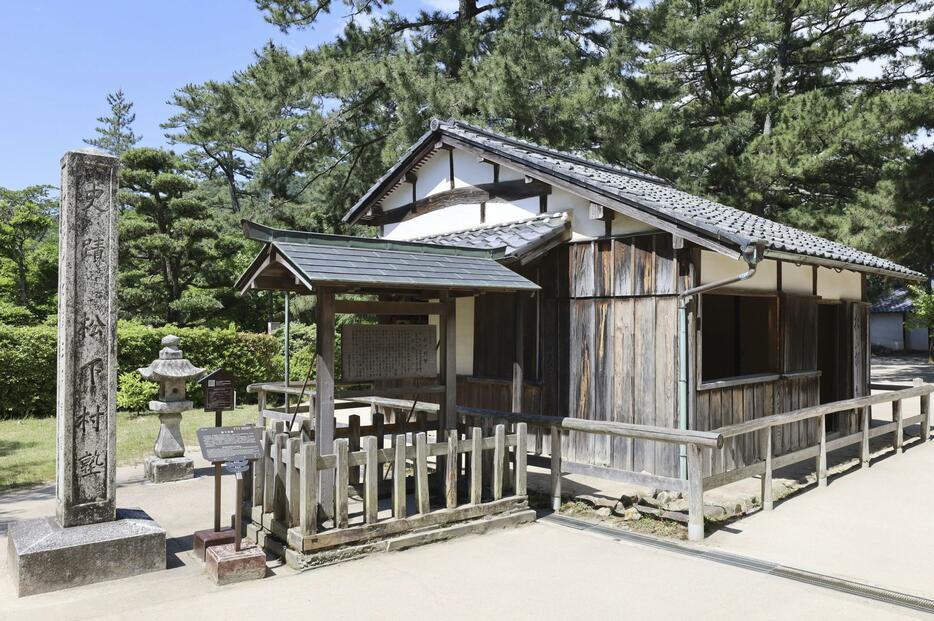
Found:
[{"label": "large framed text board hanging under the small shelter roof", "polygon": [[438,375],[437,327],[347,324],[341,330],[345,382]]}]

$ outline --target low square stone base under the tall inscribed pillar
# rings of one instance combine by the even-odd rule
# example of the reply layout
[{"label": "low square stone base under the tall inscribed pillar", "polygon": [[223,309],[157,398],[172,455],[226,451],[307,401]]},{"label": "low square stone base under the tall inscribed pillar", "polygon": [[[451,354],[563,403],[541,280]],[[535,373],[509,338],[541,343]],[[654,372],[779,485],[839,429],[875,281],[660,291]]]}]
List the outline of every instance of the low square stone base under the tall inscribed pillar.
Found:
[{"label": "low square stone base under the tall inscribed pillar", "polygon": [[7,537],[19,597],[165,569],[165,530],[140,509],[70,528],[51,517],[15,522]]}]

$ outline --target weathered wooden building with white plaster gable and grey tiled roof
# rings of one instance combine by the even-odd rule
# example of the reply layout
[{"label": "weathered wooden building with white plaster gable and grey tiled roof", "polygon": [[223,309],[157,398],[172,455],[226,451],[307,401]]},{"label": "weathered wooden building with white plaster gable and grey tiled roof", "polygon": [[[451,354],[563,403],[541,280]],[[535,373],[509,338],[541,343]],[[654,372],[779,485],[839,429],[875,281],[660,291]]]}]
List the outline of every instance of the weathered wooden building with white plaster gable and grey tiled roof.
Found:
[{"label": "weathered wooden building with white plaster gable and grey tiled roof", "polygon": [[[496,249],[541,287],[457,298],[458,405],[660,427],[868,394],[865,276],[923,278],[664,179],[457,121],[433,122],[345,221]],[[828,433],[854,419],[831,417]],[[813,421],[777,429],[776,453],[816,434]],[[684,476],[673,445],[564,441],[565,471]],[[705,468],[758,451],[731,441]]]}]

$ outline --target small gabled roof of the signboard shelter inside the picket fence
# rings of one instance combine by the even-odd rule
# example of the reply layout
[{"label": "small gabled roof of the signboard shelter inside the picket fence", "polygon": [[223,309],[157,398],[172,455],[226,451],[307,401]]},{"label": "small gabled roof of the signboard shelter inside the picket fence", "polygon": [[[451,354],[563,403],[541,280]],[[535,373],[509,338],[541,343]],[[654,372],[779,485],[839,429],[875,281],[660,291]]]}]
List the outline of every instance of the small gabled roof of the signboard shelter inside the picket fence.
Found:
[{"label": "small gabled roof of the signboard shelter inside the picket fence", "polygon": [[323,235],[270,229],[244,221],[250,239],[266,242],[240,277],[241,289],[262,272],[275,251],[306,286],[359,286],[431,290],[516,291],[538,285],[500,265],[496,253],[476,248]]}]

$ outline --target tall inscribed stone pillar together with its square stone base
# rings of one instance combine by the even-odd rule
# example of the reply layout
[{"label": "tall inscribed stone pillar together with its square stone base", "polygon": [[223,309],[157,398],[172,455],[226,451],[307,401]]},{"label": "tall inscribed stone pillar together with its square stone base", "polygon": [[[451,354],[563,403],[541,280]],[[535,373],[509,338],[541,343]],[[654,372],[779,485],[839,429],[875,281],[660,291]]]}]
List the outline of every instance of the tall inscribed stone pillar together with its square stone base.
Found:
[{"label": "tall inscribed stone pillar together with its square stone base", "polygon": [[118,165],[93,149],[62,158],[56,516],[10,526],[20,596],[165,568],[165,531],[116,506]]}]

